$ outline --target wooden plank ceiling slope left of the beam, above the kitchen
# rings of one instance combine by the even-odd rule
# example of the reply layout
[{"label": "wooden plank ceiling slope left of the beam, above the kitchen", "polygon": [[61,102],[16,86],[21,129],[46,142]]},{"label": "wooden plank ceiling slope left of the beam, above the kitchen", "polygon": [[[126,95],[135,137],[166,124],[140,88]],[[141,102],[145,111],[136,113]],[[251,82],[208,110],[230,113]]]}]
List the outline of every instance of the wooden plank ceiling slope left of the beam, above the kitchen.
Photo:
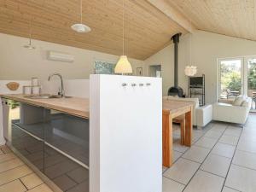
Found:
[{"label": "wooden plank ceiling slope left of the beam, above the kitchen", "polygon": [[[89,33],[73,32],[79,22],[79,0],[0,0],[0,32],[122,54],[122,1],[83,0],[83,22]],[[125,54],[144,60],[170,44],[182,26],[170,20],[146,0],[125,0]]]}]

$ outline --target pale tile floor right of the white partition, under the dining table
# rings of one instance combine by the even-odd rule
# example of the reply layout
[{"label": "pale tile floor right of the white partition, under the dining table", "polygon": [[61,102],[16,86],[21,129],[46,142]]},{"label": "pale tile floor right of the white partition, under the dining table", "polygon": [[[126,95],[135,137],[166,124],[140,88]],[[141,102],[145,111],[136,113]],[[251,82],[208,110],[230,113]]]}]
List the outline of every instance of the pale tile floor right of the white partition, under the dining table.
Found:
[{"label": "pale tile floor right of the white partition, under the dining table", "polygon": [[179,145],[174,129],[175,163],[163,168],[163,192],[256,191],[256,114],[243,127],[212,122],[194,130],[191,148]]}]

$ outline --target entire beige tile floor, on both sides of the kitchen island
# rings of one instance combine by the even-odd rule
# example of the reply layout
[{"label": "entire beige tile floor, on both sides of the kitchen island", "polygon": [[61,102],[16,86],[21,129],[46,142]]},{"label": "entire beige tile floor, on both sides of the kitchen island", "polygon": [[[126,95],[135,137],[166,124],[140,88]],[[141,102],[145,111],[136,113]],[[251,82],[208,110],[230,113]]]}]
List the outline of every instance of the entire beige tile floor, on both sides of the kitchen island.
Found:
[{"label": "entire beige tile floor, on both sides of the kitchen island", "polygon": [[[256,114],[243,128],[212,122],[194,130],[191,148],[179,144],[174,129],[175,162],[163,167],[163,192],[256,191]],[[0,192],[25,191],[52,192],[9,148],[0,147]]]}]

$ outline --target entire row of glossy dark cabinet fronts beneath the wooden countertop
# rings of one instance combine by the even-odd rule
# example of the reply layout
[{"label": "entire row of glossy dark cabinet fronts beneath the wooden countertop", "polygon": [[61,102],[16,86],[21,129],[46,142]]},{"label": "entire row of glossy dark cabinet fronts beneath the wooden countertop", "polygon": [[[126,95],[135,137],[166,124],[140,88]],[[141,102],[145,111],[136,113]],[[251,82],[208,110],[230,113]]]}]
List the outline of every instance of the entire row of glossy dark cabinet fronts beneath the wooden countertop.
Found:
[{"label": "entire row of glossy dark cabinet fronts beneath the wooden countertop", "polygon": [[89,192],[89,120],[20,103],[11,146],[62,191]]}]

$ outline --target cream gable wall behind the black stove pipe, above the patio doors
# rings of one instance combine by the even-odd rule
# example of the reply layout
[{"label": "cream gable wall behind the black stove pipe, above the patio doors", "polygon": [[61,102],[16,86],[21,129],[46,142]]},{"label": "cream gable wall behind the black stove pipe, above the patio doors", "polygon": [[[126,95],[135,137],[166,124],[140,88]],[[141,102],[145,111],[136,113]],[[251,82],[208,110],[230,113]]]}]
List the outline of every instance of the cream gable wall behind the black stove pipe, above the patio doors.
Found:
[{"label": "cream gable wall behind the black stove pipe, above the patio doors", "polygon": [[[167,89],[173,85],[173,51],[171,44],[145,61],[147,67],[148,65],[162,64],[163,95],[166,95]],[[206,75],[206,102],[216,102],[217,59],[241,55],[256,55],[256,42],[203,31],[185,35],[179,44],[179,85],[187,92],[187,77],[183,70],[186,65],[192,63],[198,67],[197,75],[202,73]]]}]

